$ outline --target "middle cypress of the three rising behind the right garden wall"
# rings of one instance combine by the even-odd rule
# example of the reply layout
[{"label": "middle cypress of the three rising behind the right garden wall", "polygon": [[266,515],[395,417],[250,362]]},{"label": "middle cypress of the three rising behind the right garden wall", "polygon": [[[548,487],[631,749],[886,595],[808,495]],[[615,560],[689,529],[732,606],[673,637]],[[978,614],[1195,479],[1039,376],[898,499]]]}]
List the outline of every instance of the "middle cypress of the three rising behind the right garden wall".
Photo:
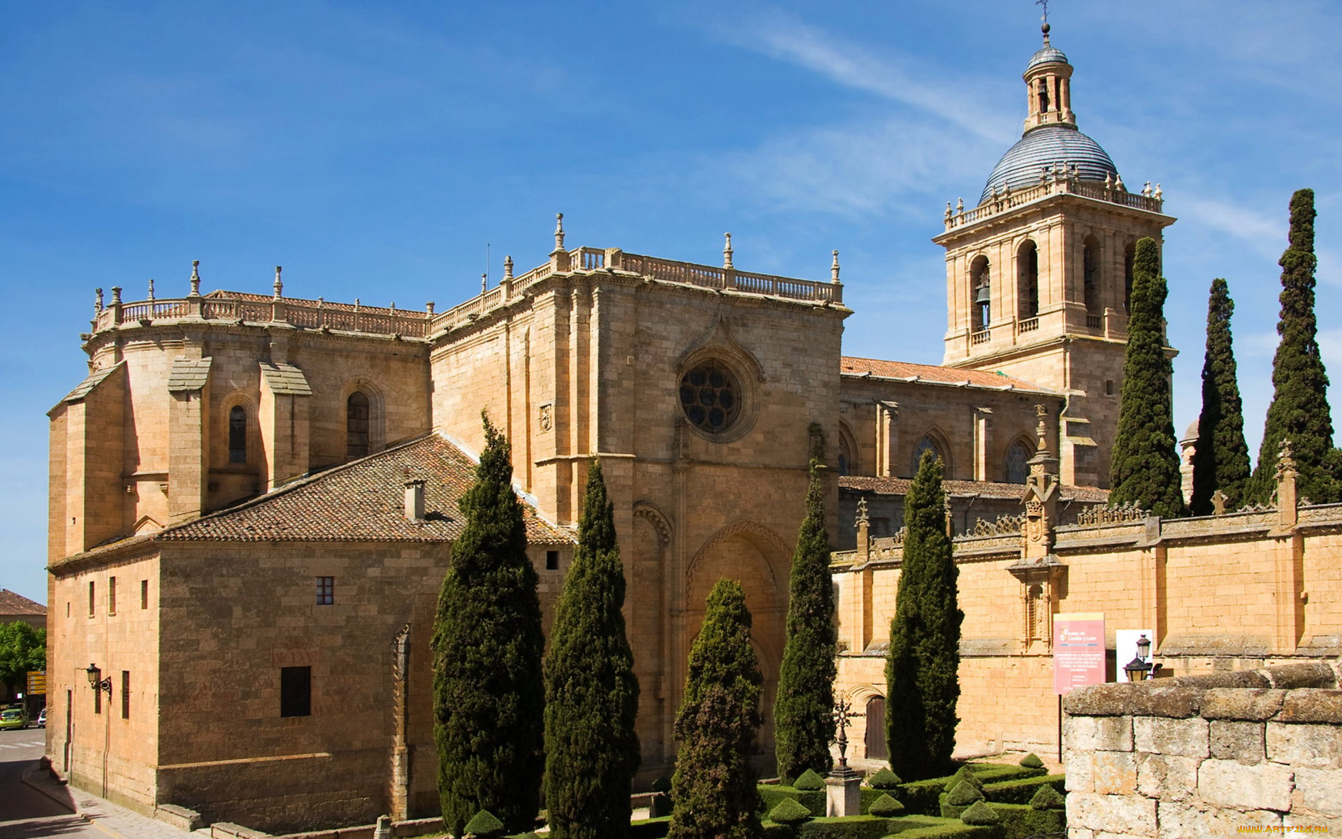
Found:
[{"label": "middle cypress of the three rising behind the right garden wall", "polygon": [[1244,499],[1249,447],[1244,443],[1244,409],[1235,375],[1231,315],[1235,301],[1221,278],[1212,281],[1206,303],[1206,356],[1202,361],[1202,413],[1193,450],[1193,515],[1212,514],[1212,494],[1221,490],[1228,509]]}]

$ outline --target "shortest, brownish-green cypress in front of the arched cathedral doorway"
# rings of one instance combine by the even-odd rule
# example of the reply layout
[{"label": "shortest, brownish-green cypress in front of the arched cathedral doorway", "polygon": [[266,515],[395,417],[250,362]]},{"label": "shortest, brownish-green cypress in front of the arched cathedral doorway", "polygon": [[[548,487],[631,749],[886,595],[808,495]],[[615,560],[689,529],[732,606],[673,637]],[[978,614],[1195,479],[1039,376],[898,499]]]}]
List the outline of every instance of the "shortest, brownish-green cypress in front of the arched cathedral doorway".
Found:
[{"label": "shortest, brownish-green cypress in front of the arched cathedral doorway", "polygon": [[671,776],[670,839],[760,839],[760,793],[750,767],[764,677],[750,647],[750,611],[735,580],[709,593],[690,648],[680,744]]}]

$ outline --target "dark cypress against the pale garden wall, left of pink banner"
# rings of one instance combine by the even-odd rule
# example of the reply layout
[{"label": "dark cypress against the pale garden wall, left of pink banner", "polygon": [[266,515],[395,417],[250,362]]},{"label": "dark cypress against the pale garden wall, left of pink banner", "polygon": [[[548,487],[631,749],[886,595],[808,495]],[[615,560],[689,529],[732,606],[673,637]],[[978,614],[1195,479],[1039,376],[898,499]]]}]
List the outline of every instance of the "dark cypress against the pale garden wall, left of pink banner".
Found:
[{"label": "dark cypress against the pale garden wall, left of pink banner", "polygon": [[905,495],[905,558],[886,654],[890,768],[906,780],[949,772],[960,699],[960,576],[946,536],[941,460],[923,452]]}]

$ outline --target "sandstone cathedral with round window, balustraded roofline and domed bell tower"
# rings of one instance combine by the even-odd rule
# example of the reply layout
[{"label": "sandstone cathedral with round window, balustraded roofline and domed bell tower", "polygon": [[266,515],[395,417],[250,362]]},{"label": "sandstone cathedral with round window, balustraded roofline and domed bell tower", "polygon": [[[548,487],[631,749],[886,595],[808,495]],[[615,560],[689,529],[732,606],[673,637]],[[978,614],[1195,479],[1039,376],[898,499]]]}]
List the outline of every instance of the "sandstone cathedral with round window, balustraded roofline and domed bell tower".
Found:
[{"label": "sandstone cathedral with round window, balustraded roofline and domed bell tower", "polygon": [[291,298],[279,268],[270,294],[203,291],[199,270],[183,297],[99,290],[87,375],[50,412],[54,768],[272,832],[432,815],[431,623],[482,411],[511,443],[546,624],[601,460],[640,779],[674,758],[721,577],[754,616],[772,756],[812,456],[839,548],[859,507],[863,540],[898,532],[929,450],[957,533],[1020,513],[1040,447],[1060,522],[1107,497],[1133,248],[1174,219],[1079,130],[1071,77],[1045,26],[1021,140],[977,205],[946,207],[941,365],[843,354],[837,252],[794,279],[738,268],[730,236],[713,266],[570,247],[562,216],[546,260],[446,310]]}]

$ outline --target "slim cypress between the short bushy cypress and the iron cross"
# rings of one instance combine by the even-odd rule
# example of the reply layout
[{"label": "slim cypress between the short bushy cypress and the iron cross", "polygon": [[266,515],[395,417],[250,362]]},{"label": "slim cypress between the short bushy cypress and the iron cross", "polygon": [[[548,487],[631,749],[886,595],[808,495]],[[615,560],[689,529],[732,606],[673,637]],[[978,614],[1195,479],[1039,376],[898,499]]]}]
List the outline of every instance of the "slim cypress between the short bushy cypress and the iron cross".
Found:
[{"label": "slim cypress between the short bushy cypress and the iron cross", "polygon": [[829,577],[829,536],[825,533],[824,486],[820,466],[811,462],[807,515],[792,554],[788,597],[788,640],[773,703],[774,754],[778,776],[792,783],[807,769],[828,772],[833,762],[835,596]]}]

